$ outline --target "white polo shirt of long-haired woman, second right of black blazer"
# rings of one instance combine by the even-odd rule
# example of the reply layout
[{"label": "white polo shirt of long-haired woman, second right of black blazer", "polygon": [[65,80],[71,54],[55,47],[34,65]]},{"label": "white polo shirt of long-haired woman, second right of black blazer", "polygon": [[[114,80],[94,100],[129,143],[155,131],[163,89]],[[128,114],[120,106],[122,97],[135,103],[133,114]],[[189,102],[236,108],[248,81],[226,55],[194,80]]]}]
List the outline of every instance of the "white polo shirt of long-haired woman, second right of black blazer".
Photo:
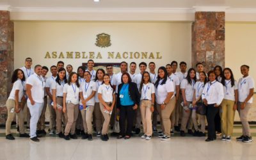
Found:
[{"label": "white polo shirt of long-haired woman, second right of black blazer", "polygon": [[[161,85],[163,80],[159,81],[159,84],[156,89],[156,102],[157,104],[163,104],[164,100],[166,99],[168,92],[173,92],[174,93],[174,88],[173,88],[173,82],[170,81],[170,79],[167,78],[166,83]],[[174,97],[171,97],[171,99]]]}]

